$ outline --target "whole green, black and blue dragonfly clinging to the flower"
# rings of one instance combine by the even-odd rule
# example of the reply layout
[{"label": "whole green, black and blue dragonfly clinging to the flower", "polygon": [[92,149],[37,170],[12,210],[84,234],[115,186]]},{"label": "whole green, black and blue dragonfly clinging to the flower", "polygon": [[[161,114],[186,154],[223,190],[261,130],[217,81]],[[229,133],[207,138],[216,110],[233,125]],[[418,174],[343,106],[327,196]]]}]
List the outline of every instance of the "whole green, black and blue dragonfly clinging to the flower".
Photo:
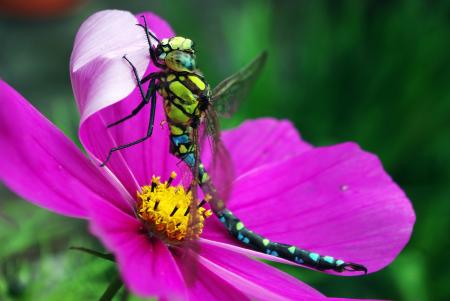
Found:
[{"label": "whole green, black and blue dragonfly clinging to the flower", "polygon": [[[164,100],[164,111],[170,129],[170,152],[188,166],[194,181],[192,186],[200,186],[211,210],[230,235],[250,249],[316,270],[367,273],[364,265],[271,241],[248,229],[226,207],[230,183],[233,181],[233,164],[220,138],[218,114],[231,115],[236,111],[239,102],[247,96],[250,87],[261,73],[267,53],[262,52],[247,66],[223,80],[214,89],[210,89],[204,76],[196,68],[193,41],[181,36],[160,40],[149,30],[145,17],[142,17],[144,25],[138,25],[145,31],[150,59],[160,70],[139,78],[133,63],[124,56],[134,73],[142,100],[130,115],[109,124],[108,127],[117,126],[132,118],[150,104],[148,130],[144,137],[136,141],[111,148],[101,166],[107,164],[114,152],[132,147],[152,136],[158,93]],[[152,45],[151,39],[157,42],[156,46]],[[149,85],[144,91],[142,85],[146,82],[149,82]],[[205,137],[210,141],[213,154],[210,173],[206,171],[200,159],[200,146],[203,145]],[[205,200],[200,205],[203,205]]]}]

